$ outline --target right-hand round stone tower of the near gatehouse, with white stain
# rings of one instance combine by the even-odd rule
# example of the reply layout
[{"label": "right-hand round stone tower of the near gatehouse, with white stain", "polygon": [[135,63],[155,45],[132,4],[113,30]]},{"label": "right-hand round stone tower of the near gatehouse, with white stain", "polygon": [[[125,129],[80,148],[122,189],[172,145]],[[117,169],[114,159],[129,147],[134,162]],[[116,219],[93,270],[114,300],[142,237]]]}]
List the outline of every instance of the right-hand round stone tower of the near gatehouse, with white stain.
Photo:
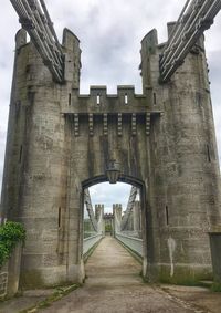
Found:
[{"label": "right-hand round stone tower of the near gatehouse, with white stain", "polygon": [[164,111],[150,132],[156,260],[161,280],[188,282],[211,274],[208,231],[221,222],[219,160],[203,39],[165,85],[158,81],[162,48],[156,31],[143,41],[144,85]]}]

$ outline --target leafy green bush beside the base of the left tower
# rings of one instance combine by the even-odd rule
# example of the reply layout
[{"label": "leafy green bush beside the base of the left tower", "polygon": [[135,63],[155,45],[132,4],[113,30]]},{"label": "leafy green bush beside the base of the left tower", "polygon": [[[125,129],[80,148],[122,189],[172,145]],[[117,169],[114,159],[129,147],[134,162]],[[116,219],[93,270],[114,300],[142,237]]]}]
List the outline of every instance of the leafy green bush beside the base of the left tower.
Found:
[{"label": "leafy green bush beside the base of the left tower", "polygon": [[24,241],[25,230],[19,222],[7,221],[0,226],[0,267],[10,258],[19,241]]}]

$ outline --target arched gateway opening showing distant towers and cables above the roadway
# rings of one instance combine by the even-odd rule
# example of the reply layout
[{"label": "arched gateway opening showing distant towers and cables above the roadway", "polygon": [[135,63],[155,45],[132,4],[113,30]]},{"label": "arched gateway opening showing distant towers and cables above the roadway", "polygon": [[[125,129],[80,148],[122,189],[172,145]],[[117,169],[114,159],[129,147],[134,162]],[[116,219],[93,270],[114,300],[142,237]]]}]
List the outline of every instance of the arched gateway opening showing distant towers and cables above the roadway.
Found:
[{"label": "arched gateway opening showing distant towers and cables above the roadway", "polygon": [[83,259],[87,260],[94,247],[109,237],[138,257],[145,274],[147,209],[144,182],[120,175],[118,182],[110,185],[106,176],[99,176],[83,182]]}]

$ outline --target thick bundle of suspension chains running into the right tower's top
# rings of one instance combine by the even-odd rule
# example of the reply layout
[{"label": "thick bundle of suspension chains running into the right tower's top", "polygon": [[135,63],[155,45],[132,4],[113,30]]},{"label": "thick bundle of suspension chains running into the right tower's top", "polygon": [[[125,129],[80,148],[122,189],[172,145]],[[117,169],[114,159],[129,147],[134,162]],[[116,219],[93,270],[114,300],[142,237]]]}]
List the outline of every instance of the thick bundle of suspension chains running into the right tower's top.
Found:
[{"label": "thick bundle of suspension chains running into the right tower's top", "polygon": [[160,81],[168,82],[202,33],[211,27],[221,0],[187,0],[160,55]]}]

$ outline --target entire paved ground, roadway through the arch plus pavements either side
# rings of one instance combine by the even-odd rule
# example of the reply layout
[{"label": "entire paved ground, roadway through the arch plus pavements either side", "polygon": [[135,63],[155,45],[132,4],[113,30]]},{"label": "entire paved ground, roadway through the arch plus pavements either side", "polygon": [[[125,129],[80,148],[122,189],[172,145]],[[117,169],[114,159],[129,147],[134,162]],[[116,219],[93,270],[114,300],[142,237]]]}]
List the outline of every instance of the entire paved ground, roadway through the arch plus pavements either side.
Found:
[{"label": "entire paved ground, roadway through the arch plus pavements either side", "polygon": [[143,282],[141,265],[112,237],[102,240],[86,263],[87,279],[49,309],[32,309],[54,290],[27,291],[0,303],[0,313],[220,313],[221,294],[208,289],[154,286]]}]

